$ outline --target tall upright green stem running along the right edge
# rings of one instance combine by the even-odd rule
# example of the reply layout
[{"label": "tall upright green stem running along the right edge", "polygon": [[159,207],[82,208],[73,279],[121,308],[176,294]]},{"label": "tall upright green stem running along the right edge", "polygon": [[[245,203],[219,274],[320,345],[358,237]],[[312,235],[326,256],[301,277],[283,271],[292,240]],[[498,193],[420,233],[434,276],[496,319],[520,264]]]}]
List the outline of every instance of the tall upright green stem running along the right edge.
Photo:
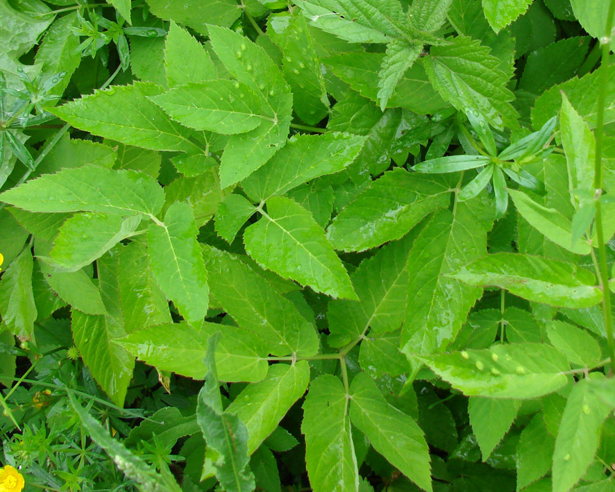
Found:
[{"label": "tall upright green stem running along the right edge", "polygon": [[603,289],[603,316],[605,318],[605,331],[607,332],[607,342],[609,347],[609,357],[611,359],[610,375],[615,371],[615,341],[613,339],[613,318],[611,307],[611,293],[609,291],[609,270],[607,266],[607,248],[605,246],[605,235],[602,222],[602,208],[600,194],[603,191],[603,143],[605,126],[605,104],[607,99],[607,83],[609,81],[607,67],[609,66],[611,31],[613,30],[613,15],[615,15],[615,0],[609,2],[605,35],[600,40],[602,46],[602,71],[600,74],[600,84],[598,85],[598,114],[596,117],[596,159],[593,167],[593,188],[596,190],[596,239],[598,241],[598,266],[600,267],[600,287]]}]

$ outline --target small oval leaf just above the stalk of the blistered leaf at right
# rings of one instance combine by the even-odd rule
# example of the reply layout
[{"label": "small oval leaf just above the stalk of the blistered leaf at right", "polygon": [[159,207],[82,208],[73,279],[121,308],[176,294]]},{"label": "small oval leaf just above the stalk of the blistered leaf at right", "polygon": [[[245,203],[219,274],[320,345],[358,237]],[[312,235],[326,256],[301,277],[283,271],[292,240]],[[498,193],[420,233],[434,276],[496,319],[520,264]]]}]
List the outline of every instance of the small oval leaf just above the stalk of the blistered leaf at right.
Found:
[{"label": "small oval leaf just above the stalk of the blistered leaf at right", "polygon": [[547,336],[553,346],[566,355],[568,361],[582,367],[593,367],[602,353],[596,339],[587,331],[564,321],[549,321]]}]

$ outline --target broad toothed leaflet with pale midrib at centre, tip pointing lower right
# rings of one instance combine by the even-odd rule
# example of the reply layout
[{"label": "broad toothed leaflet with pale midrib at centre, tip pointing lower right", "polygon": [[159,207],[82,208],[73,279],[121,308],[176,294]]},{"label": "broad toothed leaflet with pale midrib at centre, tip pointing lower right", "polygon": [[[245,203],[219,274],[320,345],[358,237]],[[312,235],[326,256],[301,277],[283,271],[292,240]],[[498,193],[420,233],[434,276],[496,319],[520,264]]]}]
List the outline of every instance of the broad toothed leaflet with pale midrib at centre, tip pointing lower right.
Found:
[{"label": "broad toothed leaflet with pale midrib at centre, tip pointing lower right", "polygon": [[342,261],[314,217],[284,197],[267,201],[267,212],[244,232],[246,252],[260,266],[332,297],[357,298]]}]

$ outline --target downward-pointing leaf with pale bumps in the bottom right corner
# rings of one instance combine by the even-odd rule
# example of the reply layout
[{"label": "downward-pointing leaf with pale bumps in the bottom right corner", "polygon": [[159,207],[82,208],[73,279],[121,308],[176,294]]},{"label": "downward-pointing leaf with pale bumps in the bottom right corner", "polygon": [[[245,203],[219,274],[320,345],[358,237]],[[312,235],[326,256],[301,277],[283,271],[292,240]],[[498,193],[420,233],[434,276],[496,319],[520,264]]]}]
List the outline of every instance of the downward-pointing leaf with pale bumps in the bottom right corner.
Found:
[{"label": "downward-pointing leaf with pale bumps in the bottom right corner", "polygon": [[577,382],[568,396],[555,439],[553,492],[570,490],[585,474],[600,443],[603,422],[612,411],[591,391],[591,379],[603,380],[604,375],[591,373]]}]

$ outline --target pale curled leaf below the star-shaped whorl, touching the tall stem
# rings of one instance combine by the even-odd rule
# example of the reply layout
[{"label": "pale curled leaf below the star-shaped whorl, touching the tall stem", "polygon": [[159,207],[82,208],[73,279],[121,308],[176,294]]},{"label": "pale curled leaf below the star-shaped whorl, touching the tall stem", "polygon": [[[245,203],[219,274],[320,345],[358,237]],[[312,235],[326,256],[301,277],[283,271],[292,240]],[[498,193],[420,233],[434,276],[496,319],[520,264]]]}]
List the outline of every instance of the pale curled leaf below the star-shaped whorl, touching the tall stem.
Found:
[{"label": "pale curled leaf below the star-shaped whorl, touching the tall stem", "polygon": [[544,234],[547,239],[573,253],[589,254],[590,246],[587,242],[576,241],[573,245],[572,223],[559,211],[536,203],[527,194],[516,189],[510,189],[509,195],[523,219]]}]

